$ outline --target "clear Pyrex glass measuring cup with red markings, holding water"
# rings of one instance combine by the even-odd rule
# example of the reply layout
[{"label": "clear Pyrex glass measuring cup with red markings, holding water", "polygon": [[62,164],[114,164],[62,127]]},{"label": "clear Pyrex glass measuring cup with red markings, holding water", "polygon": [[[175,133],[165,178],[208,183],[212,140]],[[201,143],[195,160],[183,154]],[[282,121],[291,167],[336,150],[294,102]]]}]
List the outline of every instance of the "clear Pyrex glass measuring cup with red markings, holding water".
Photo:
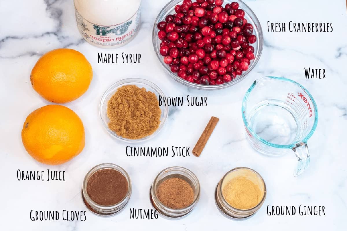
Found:
[{"label": "clear Pyrex glass measuring cup with red markings, holding water", "polygon": [[254,81],[242,104],[242,118],[252,146],[278,156],[292,149],[297,158],[294,176],[310,165],[307,140],[318,122],[316,103],[299,83],[278,77]]}]

